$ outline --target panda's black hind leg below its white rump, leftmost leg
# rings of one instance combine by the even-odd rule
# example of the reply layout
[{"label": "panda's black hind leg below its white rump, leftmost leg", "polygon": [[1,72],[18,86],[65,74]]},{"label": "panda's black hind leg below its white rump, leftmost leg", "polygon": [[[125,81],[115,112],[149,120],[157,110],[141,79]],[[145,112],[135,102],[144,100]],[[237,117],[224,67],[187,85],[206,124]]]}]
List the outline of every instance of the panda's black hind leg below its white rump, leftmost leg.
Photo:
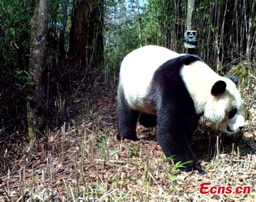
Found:
[{"label": "panda's black hind leg below its white rump, leftmost leg", "polygon": [[139,140],[136,135],[138,116],[139,112],[129,107],[127,101],[125,100],[123,90],[119,87],[117,103],[118,140],[121,140],[121,138]]}]

